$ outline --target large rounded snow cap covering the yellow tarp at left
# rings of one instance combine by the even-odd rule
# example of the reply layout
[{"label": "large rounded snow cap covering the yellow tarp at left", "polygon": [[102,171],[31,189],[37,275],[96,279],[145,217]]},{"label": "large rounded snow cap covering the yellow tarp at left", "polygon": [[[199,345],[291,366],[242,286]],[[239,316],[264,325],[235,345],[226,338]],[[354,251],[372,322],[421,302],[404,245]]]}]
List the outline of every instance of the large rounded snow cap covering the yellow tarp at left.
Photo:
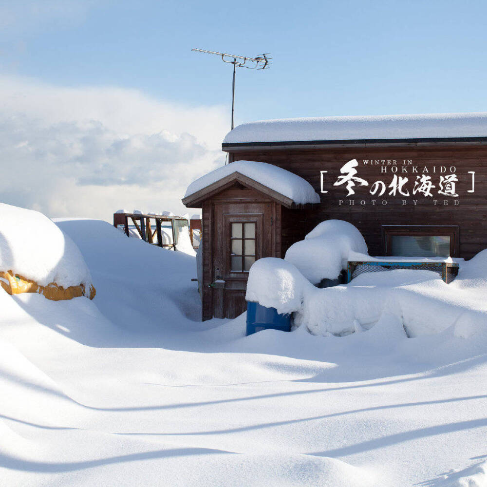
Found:
[{"label": "large rounded snow cap covering the yellow tarp at left", "polygon": [[[38,211],[0,203],[0,271],[46,286],[92,285],[88,267],[73,240]],[[1,290],[3,293],[3,290]]]}]

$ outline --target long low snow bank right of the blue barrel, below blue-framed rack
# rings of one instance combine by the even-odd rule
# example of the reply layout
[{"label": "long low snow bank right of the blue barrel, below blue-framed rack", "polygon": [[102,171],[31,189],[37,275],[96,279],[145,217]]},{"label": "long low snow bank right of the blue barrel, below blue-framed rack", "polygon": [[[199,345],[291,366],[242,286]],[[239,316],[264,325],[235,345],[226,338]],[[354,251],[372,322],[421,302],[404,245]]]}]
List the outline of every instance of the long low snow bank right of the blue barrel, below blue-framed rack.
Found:
[{"label": "long low snow bank right of the blue barrel, below blue-framed rack", "polygon": [[[487,252],[482,254],[475,259],[485,268]],[[457,337],[485,333],[487,283],[485,277],[470,278],[475,267],[474,262],[461,268],[459,281],[451,284],[435,272],[397,269],[365,273],[348,285],[310,289],[298,323],[314,335],[342,336],[368,330],[389,314],[402,323],[409,337],[441,333],[450,327]]]}]

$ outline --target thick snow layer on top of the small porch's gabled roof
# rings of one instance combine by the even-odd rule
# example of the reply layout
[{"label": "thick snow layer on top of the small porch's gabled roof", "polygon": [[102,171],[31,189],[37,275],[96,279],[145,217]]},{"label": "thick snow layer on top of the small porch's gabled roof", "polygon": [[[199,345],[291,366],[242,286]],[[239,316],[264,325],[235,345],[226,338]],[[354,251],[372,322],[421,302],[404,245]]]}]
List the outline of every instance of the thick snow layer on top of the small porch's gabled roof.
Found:
[{"label": "thick snow layer on top of the small porch's gabled roof", "polygon": [[240,172],[244,176],[274,189],[274,191],[291,198],[298,205],[320,202],[313,187],[297,174],[272,164],[255,161],[236,161],[208,172],[188,186],[185,198],[234,172]]}]

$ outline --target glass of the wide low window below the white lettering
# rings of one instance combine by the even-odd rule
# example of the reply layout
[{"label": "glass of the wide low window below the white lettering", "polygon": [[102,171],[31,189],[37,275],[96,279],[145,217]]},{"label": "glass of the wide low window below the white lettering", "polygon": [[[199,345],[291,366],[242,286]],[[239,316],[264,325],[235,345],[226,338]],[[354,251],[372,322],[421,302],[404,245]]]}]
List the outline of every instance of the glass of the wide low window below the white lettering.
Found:
[{"label": "glass of the wide low window below the white lettering", "polygon": [[449,235],[391,235],[391,255],[404,257],[448,257]]}]

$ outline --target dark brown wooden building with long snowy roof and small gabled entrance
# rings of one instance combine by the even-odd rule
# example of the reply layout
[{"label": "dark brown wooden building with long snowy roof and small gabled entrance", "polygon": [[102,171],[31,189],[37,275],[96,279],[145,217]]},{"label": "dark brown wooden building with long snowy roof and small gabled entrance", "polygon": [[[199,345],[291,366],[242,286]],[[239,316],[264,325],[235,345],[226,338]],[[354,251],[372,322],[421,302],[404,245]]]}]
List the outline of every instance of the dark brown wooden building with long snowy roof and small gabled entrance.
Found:
[{"label": "dark brown wooden building with long snowy roof and small gabled entrance", "polygon": [[[253,260],[284,257],[324,220],[355,225],[375,256],[469,259],[487,248],[487,113],[255,122],[229,132],[223,150],[230,167],[258,161],[300,176],[320,202],[296,205],[238,172],[185,197],[203,208],[203,319],[242,313]],[[254,254],[236,254],[246,239]]]}]

